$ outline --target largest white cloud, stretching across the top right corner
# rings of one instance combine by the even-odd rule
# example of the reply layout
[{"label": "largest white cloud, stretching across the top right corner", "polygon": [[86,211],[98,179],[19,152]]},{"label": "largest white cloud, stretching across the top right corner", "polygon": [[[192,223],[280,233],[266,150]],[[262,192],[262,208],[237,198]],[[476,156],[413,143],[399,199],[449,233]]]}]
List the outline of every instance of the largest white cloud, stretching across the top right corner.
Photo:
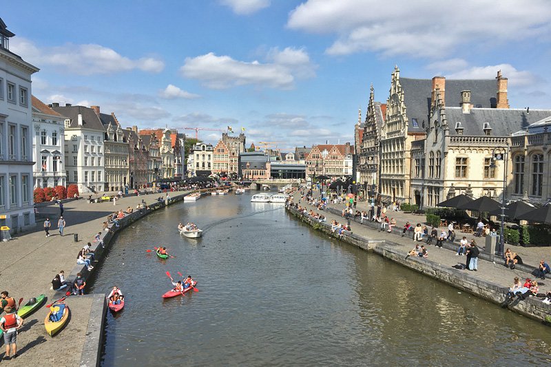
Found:
[{"label": "largest white cloud, stretching across the top right corner", "polygon": [[551,2],[533,0],[433,1],[306,0],[289,14],[287,26],[306,32],[335,34],[327,48],[333,55],[380,52],[384,55],[443,57],[478,43],[519,41],[548,34]]}]

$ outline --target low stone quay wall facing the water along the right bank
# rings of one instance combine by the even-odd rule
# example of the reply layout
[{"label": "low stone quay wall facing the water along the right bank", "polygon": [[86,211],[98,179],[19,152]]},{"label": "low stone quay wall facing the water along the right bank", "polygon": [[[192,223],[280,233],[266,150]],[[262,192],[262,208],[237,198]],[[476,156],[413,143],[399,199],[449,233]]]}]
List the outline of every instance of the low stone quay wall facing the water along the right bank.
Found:
[{"label": "low stone quay wall facing the water along the right bank", "polygon": [[[336,233],[331,232],[331,225],[326,222],[319,222],[311,218],[309,215],[300,213],[294,208],[286,207],[288,213],[296,218],[302,220],[302,222],[309,224],[313,229],[322,231],[330,237],[337,238],[343,242],[353,244],[360,249],[366,251],[373,251],[381,255],[383,258],[392,260],[398,264],[406,266],[409,269],[433,277],[435,280],[444,282],[450,286],[453,286],[461,291],[468,292],[477,297],[481,297],[484,300],[488,300],[495,304],[503,306],[503,302],[506,299],[506,293],[508,288],[500,286],[486,280],[481,280],[470,273],[454,269],[451,266],[442,266],[433,261],[423,258],[407,257],[406,252],[401,251],[399,247],[402,247],[400,244],[389,240],[368,240],[360,235],[355,233],[346,232],[342,236],[337,235]],[[334,210],[334,209],[333,209]],[[340,212],[338,212],[340,214]],[[398,233],[401,234],[401,231]],[[453,245],[453,244],[452,244]],[[550,322],[546,320],[546,317],[551,315],[551,305],[543,304],[539,300],[534,300],[532,297],[527,298],[526,300],[514,300],[511,304],[507,306],[511,311],[519,313],[520,315],[530,317],[537,321],[543,322],[544,324],[551,325]]]}]

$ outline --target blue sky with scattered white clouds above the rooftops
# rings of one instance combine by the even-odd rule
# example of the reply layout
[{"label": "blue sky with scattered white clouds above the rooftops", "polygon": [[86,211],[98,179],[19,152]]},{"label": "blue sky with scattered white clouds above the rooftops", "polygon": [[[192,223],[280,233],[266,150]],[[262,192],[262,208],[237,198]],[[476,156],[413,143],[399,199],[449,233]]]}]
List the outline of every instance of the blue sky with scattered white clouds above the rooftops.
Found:
[{"label": "blue sky with scattered white clouds above the rooftops", "polygon": [[0,17],[10,50],[41,69],[35,96],[99,105],[123,127],[353,143],[370,85],[386,103],[395,65],[428,79],[501,70],[511,107],[551,108],[546,0],[27,0]]}]

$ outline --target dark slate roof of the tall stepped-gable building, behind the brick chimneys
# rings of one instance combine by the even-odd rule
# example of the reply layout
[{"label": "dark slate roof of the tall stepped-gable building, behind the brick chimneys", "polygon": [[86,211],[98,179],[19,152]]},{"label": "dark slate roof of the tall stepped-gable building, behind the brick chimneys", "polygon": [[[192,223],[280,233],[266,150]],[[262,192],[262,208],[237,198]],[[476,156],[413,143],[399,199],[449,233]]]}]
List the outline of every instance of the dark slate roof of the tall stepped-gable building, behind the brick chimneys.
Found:
[{"label": "dark slate roof of the tall stepped-gable building, behind the brick chimneys", "polygon": [[[430,95],[433,81],[431,79],[399,78],[404,90],[404,103],[408,132],[425,132],[423,120],[428,126],[430,114]],[[446,79],[444,103],[446,107],[459,107],[461,91],[470,90],[470,103],[475,107],[492,108],[496,106],[497,82],[494,79]],[[414,126],[414,121],[417,125]]]}]

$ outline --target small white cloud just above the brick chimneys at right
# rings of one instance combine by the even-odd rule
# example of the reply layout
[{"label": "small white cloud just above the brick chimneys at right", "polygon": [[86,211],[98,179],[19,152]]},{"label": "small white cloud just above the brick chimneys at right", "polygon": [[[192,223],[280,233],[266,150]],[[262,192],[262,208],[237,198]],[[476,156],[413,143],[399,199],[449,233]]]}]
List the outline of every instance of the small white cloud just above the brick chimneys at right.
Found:
[{"label": "small white cloud just above the brick chimneys at right", "polygon": [[464,70],[459,70],[452,74],[447,74],[449,79],[491,79],[497,75],[497,70],[501,70],[501,74],[508,78],[508,85],[514,87],[527,87],[538,83],[539,78],[528,71],[517,70],[510,64],[488,65],[488,66],[473,66]]}]

